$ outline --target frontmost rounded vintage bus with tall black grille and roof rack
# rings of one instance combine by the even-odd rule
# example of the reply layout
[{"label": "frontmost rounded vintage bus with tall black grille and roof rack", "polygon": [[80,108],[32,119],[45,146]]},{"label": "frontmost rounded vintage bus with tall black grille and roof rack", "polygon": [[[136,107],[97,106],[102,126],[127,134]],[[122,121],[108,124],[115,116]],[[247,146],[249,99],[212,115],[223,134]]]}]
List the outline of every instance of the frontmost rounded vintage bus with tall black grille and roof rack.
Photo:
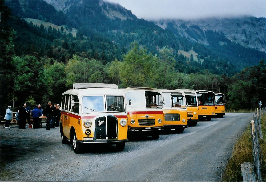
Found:
[{"label": "frontmost rounded vintage bus with tall black grille and roof rack", "polygon": [[124,93],[115,84],[73,84],[62,94],[60,133],[75,153],[84,144],[110,143],[123,150],[127,139]]}]

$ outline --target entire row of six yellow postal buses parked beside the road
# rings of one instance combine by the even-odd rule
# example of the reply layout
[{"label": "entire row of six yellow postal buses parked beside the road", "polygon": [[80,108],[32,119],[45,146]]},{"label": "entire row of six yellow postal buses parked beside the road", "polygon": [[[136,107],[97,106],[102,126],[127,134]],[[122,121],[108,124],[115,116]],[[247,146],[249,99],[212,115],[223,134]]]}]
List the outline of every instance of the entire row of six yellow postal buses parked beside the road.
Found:
[{"label": "entire row of six yellow postal buses parked beside the road", "polygon": [[200,120],[225,115],[224,95],[204,90],[161,90],[115,84],[73,84],[62,94],[60,133],[75,153],[87,143],[115,144],[128,136],[158,139],[162,130],[182,133]]}]

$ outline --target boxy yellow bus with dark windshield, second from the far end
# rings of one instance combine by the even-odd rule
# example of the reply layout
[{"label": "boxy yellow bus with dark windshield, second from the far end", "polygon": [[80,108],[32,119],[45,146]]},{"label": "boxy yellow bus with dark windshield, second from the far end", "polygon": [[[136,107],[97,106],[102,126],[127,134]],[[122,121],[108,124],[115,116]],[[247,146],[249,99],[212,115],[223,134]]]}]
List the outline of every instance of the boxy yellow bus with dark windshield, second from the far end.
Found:
[{"label": "boxy yellow bus with dark windshield, second from the far end", "polygon": [[215,117],[214,92],[196,90],[199,105],[199,120],[211,121]]}]

